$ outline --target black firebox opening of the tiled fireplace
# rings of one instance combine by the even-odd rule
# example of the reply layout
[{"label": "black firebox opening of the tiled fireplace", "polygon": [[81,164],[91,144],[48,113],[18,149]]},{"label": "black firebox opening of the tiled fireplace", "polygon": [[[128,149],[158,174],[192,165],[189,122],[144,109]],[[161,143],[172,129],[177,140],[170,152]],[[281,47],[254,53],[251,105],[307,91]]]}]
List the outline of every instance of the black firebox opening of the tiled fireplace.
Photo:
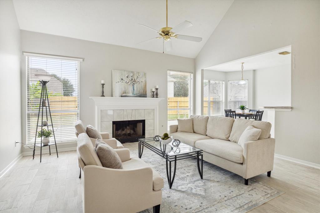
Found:
[{"label": "black firebox opening of the tiled fireplace", "polygon": [[121,143],[137,142],[145,138],[145,120],[113,121],[112,135]]}]

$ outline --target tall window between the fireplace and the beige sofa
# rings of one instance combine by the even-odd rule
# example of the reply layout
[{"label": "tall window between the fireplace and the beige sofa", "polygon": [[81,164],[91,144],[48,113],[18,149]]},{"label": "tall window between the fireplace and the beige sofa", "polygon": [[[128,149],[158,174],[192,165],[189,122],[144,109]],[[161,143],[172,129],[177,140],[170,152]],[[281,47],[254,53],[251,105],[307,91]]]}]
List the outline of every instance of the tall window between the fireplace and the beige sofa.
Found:
[{"label": "tall window between the fireplace and the beige sofa", "polygon": [[193,73],[168,70],[168,132],[178,118],[192,114]]}]

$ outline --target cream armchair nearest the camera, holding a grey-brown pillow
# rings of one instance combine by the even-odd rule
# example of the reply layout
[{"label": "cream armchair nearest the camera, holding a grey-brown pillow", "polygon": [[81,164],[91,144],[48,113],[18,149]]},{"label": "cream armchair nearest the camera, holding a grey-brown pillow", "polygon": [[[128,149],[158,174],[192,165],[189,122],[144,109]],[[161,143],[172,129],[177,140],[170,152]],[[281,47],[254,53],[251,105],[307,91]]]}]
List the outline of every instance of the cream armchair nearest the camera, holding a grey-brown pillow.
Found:
[{"label": "cream armchair nearest the camera, holding a grey-brown pillow", "polygon": [[102,167],[89,136],[78,136],[78,161],[83,171],[82,207],[84,213],[139,212],[153,207],[160,211],[163,178],[129,149],[115,149],[123,169]]}]

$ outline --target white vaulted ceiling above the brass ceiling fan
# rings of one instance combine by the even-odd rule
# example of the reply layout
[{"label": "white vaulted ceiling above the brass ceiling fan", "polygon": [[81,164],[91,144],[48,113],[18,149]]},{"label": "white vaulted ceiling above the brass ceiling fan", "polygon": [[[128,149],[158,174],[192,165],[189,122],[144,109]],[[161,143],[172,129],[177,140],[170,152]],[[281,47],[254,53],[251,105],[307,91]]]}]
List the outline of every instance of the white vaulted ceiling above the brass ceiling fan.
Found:
[{"label": "white vaulted ceiling above the brass ceiling fan", "polygon": [[[168,26],[188,20],[193,26],[179,34],[202,37],[200,43],[172,41],[168,54],[196,58],[233,1],[168,1]],[[165,0],[24,1],[13,0],[20,29],[162,52],[162,41],[137,44],[165,27]]]}]

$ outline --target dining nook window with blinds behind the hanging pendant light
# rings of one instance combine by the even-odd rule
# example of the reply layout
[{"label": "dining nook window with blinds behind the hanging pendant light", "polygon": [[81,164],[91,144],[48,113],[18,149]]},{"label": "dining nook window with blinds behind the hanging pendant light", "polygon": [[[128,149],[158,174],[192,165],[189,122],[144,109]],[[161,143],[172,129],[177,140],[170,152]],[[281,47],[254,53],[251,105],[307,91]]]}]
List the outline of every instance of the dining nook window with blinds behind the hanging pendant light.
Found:
[{"label": "dining nook window with blinds behind the hanging pendant light", "polygon": [[248,80],[228,81],[228,109],[236,110],[238,106],[248,106]]}]

